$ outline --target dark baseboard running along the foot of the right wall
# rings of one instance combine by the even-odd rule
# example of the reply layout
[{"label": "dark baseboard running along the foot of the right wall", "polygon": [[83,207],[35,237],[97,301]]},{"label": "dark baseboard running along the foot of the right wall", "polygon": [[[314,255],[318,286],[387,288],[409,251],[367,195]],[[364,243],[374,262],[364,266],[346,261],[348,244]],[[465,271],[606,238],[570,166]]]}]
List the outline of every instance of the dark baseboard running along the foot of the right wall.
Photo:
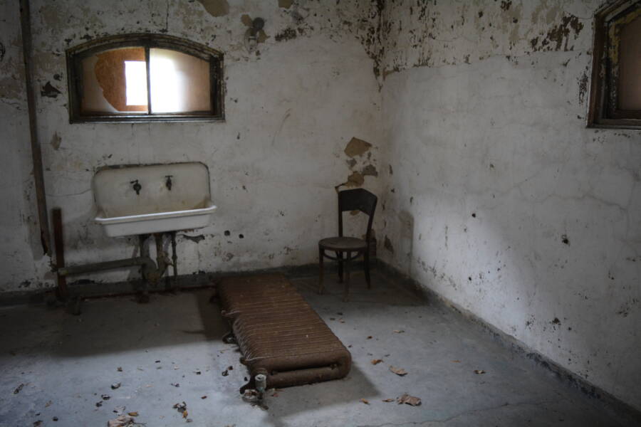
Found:
[{"label": "dark baseboard running along the foot of the right wall", "polygon": [[503,347],[510,349],[511,352],[514,352],[520,357],[524,357],[533,364],[536,364],[537,367],[541,367],[546,371],[550,372],[555,376],[559,381],[567,384],[573,389],[580,390],[583,394],[589,396],[591,399],[595,399],[603,403],[611,411],[615,411],[619,416],[625,418],[625,421],[630,421],[630,426],[641,426],[641,411],[639,411],[634,406],[625,403],[624,401],[618,399],[612,394],[608,393],[594,384],[591,384],[590,381],[587,381],[572,371],[569,371],[565,367],[553,362],[552,359],[544,356],[543,354],[536,352],[536,350],[528,347],[524,342],[519,341],[518,339],[512,337],[509,334],[506,334],[502,330],[499,330],[494,325],[490,325],[481,317],[475,315],[469,310],[455,304],[446,297],[443,297],[434,290],[427,288],[427,286],[422,285],[417,280],[410,278],[410,276],[402,273],[400,270],[394,266],[385,263],[382,260],[377,261],[377,270],[384,275],[387,275],[388,278],[396,280],[397,283],[400,283],[403,288],[414,292],[415,295],[422,297],[429,302],[437,303],[443,305],[444,307],[454,310],[455,312],[463,315],[471,322],[474,322],[491,335],[497,342],[499,342]]}]

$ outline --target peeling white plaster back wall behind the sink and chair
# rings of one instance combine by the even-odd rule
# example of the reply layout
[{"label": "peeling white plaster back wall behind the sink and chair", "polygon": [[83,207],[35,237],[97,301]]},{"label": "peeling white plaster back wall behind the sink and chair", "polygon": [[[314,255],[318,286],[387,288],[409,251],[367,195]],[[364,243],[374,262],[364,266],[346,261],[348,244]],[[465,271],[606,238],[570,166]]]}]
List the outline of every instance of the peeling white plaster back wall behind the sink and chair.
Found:
[{"label": "peeling white plaster back wall behind the sink and chair", "polygon": [[[6,47],[1,122],[8,129],[0,186],[11,200],[0,216],[0,256],[9,261],[0,273],[5,292],[22,290],[26,282],[30,289],[53,285],[48,258],[29,241],[37,234],[28,116],[19,10],[9,3],[1,6],[0,39]],[[372,72],[377,10],[377,4],[359,0],[31,1],[46,194],[50,208],[63,209],[67,263],[137,253],[136,238],[107,238],[92,221],[90,185],[98,168],[186,161],[207,164],[219,209],[212,226],[179,233],[179,273],[316,262],[318,239],[336,233],[333,187],[378,165],[380,93]],[[258,16],[266,26],[257,50],[249,53],[246,24]],[[279,38],[283,31],[290,36]],[[225,122],[70,125],[66,48],[135,32],[166,33],[224,52]],[[345,154],[353,137],[372,144],[368,153]],[[378,181],[370,173],[359,184],[377,192]],[[137,277],[131,269],[86,278]]]}]

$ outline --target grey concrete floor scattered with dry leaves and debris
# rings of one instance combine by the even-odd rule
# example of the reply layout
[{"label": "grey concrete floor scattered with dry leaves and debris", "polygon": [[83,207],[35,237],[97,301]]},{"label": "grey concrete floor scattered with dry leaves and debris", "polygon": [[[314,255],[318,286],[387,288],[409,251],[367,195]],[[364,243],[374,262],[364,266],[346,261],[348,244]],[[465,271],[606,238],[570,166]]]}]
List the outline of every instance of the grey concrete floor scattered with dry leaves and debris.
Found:
[{"label": "grey concrete floor scattered with dry leaves and debris", "polygon": [[[149,427],[179,426],[187,420],[172,406],[182,401],[191,426],[626,425],[457,312],[373,279],[367,290],[355,274],[348,303],[333,278],[322,296],[316,278],[293,280],[353,366],[343,380],[271,393],[266,411],[241,400],[247,374],[236,346],[220,340],[226,327],[212,290],[152,295],[147,305],[89,300],[77,317],[43,305],[1,308],[0,426],[106,426],[118,411],[136,411]],[[422,405],[382,401],[406,392]]]}]

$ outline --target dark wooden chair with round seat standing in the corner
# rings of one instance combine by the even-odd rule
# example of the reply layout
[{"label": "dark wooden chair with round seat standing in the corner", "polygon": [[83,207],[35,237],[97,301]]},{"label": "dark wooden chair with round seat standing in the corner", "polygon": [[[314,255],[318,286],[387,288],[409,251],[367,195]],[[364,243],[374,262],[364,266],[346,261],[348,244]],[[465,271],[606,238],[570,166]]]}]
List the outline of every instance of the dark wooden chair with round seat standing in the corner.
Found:
[{"label": "dark wooden chair with round seat standing in the corner", "polygon": [[[368,283],[368,289],[372,287],[370,280],[370,233],[377,201],[377,196],[365,189],[338,192],[338,237],[323,238],[318,242],[318,265],[320,267],[318,293],[323,293],[323,258],[338,261],[338,280],[345,283],[343,301],[347,301],[350,296],[350,261],[355,260],[360,255],[363,255],[365,280]],[[345,211],[361,211],[369,216],[365,240],[343,236],[343,212]],[[336,256],[330,256],[325,251],[334,252]],[[343,255],[345,255],[345,258],[343,258]]]}]

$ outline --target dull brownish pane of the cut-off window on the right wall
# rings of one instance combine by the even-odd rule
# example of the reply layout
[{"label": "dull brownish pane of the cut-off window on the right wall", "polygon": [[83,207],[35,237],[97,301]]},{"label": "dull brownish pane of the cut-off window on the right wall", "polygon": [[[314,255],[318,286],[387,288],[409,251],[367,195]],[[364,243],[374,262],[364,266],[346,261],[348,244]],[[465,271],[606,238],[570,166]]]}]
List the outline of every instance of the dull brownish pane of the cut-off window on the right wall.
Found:
[{"label": "dull brownish pane of the cut-off window on the right wall", "polygon": [[621,28],[619,108],[641,110],[641,16]]}]

